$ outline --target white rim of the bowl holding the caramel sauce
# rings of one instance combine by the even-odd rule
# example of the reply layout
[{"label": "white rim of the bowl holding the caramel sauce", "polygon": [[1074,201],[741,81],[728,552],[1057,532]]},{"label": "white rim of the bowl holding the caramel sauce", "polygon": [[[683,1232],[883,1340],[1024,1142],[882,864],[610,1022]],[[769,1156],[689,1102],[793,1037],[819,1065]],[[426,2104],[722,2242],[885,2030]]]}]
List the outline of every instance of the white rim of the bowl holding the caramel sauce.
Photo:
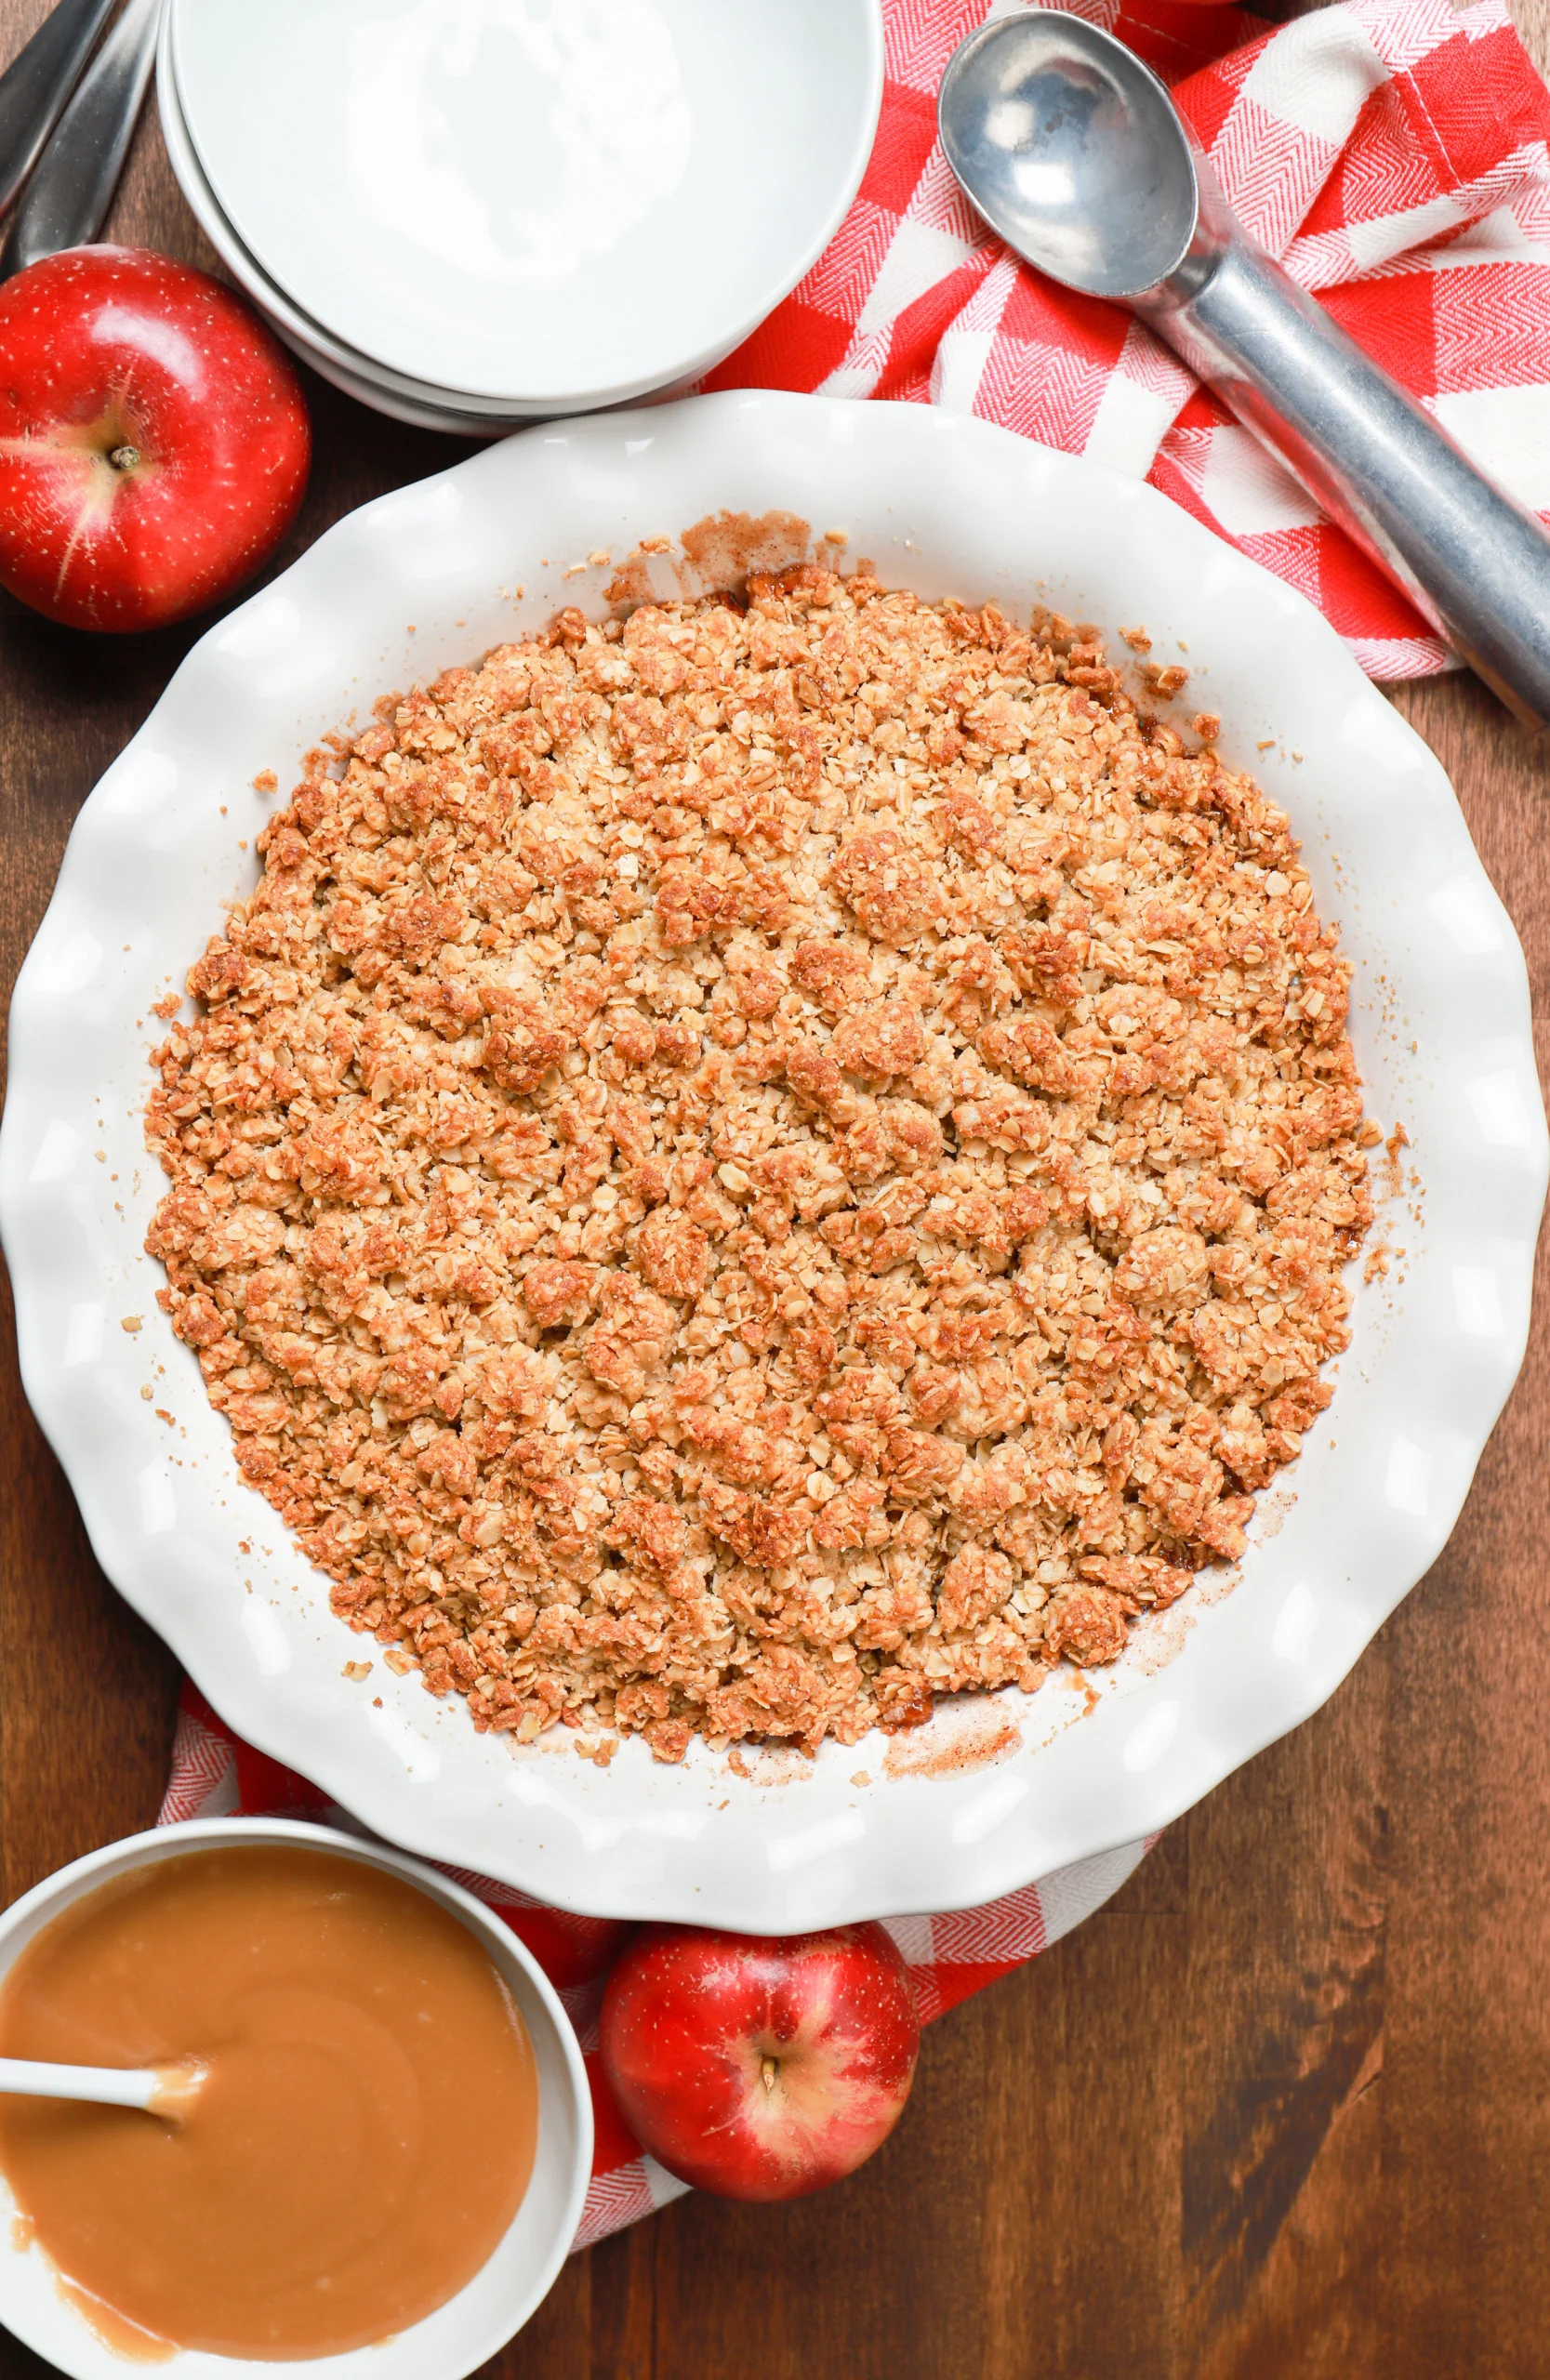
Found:
[{"label": "white rim of the bowl holding the caramel sauce", "polygon": [[[57,1914],[62,1897],[74,1902],[76,1890],[90,1890],[93,1878],[107,1880],[110,1875],[121,1875],[162,1859],[190,1856],[193,1852],[252,1849],[264,1844],[298,1844],[310,1852],[331,1852],[340,1859],[357,1859],[364,1866],[386,1868],[388,1875],[400,1875],[405,1883],[429,1892],[431,1899],[452,1909],[452,1914],[462,1918],[495,1966],[507,1961],[521,1973],[560,2047],[569,2085],[567,2097],[576,2125],[576,2156],[571,2161],[564,2211],[555,2225],[555,2242],[538,2266],[526,2297],[517,2304],[512,2323],[495,2325],[493,2330],[486,2328],[474,2349],[457,2351],[457,2368],[440,2375],[440,2380],[467,2380],[467,2375],[479,2370],[481,2363],[500,2354],[500,2349],[524,2328],[555,2287],[581,2225],[593,2171],[593,2094],[576,2028],[571,2025],[555,1985],[543,1973],[526,1942],[521,1942],[510,1925],[502,1925],[493,1909],[486,1909],[483,1902],[479,1902],[464,1885],[445,1875],[440,1868],[433,1868],[421,1859],[412,1859],[407,1852],[395,1849],[390,1842],[379,1842],[374,1835],[343,1833],[340,1828],[317,1825],[307,1818],[183,1818],[174,1825],[152,1825],[138,1835],[121,1835],[117,1842],[105,1842],[95,1852],[83,1852],[81,1859],[71,1859],[64,1868],[55,1868],[52,1875],[40,1878],[40,1883],[31,1885],[29,1892],[10,1902],[10,1906],[0,1911],[0,1980],[10,1968],[10,1959],[5,1956],[10,1940],[17,1933],[29,1930],[33,1921],[38,1921],[38,1925],[48,1925],[50,1916]],[[19,2242],[0,2242],[0,2320],[5,2320],[5,2325],[40,2356],[57,2361],[64,2351],[64,2340],[31,2337],[29,2330],[14,2325],[12,2311],[7,2311],[5,2273],[12,2254],[24,2254]],[[474,2282],[464,2282],[464,2290],[460,2290],[457,2297],[467,2294],[471,2287]],[[445,2316],[448,2309],[457,2304],[457,2297],[448,2299],[438,2313]],[[69,2299],[60,2297],[57,2304],[67,2316],[67,2330],[74,2330],[81,2340],[81,2354],[93,2368],[90,2380],[98,2380],[98,2373],[102,2370],[102,2347],[98,2335],[86,2325],[74,2306],[69,2306]],[[436,2320],[436,2316],[426,2316],[426,2320]],[[414,2330],[417,2328],[421,2325],[417,2323]],[[402,2332],[405,2340],[412,2340],[412,2330]],[[212,2375],[229,2370],[236,2380],[243,2380],[243,2375],[255,2375],[257,2380],[260,2373],[281,2368],[267,2359],[207,2356],[190,2354],[186,2349],[174,2356],[174,2363],[179,2370],[198,2370],[200,2366],[207,2366]],[[107,2368],[124,2368],[124,2359],[110,2351]],[[336,2375],[338,2380],[352,2380],[360,2370],[362,2380],[367,2380],[369,2370],[383,2368],[383,2359],[379,2347],[357,2347],[343,2354],[293,2359],[290,2368],[298,2373],[319,2373],[319,2380],[336,2380]]]}]

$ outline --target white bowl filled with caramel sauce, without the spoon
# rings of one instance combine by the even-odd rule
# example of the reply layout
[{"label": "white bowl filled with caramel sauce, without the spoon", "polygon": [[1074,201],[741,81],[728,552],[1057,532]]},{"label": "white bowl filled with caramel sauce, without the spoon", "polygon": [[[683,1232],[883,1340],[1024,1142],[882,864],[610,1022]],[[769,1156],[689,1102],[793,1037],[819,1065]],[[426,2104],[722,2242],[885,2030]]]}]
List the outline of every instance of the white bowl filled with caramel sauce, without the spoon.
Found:
[{"label": "white bowl filled with caramel sauce, without the spoon", "polygon": [[71,2380],[462,2380],[581,2221],[552,1985],[331,1828],[200,1818],[48,1878],[0,1916],[0,2056],[188,2078],[162,2113],[0,2094],[0,2323]]}]

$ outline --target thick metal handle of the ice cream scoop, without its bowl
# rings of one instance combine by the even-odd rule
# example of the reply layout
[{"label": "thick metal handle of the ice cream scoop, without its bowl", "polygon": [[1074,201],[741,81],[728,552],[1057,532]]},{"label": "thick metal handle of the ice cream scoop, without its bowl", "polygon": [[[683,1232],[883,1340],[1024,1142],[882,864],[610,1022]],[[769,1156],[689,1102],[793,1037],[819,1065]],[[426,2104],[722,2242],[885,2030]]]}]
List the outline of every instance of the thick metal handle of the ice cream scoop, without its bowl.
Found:
[{"label": "thick metal handle of the ice cream scoop, without its bowl", "polygon": [[1550,721],[1550,531],[1226,214],[1131,300],[1529,726]]}]

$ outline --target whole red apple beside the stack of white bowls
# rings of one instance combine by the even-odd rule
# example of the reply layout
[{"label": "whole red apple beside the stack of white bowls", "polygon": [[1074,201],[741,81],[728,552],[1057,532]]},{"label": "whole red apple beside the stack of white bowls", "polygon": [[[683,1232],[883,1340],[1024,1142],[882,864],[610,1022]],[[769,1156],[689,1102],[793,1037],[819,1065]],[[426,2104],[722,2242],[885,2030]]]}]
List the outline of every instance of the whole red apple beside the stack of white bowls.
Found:
[{"label": "whole red apple beside the stack of white bowls", "polygon": [[0,288],[0,585],[71,628],[162,628],[250,578],[312,433],[255,314],[145,248],[69,248]]}]

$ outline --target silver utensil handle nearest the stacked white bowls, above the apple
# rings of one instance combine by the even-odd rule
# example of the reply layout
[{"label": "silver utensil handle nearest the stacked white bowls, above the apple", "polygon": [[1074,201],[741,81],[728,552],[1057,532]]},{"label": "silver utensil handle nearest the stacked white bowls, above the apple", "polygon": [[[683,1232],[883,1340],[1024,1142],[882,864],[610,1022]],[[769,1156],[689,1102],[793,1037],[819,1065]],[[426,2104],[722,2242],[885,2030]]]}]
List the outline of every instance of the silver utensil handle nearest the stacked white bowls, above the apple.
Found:
[{"label": "silver utensil handle nearest the stacked white bowls, above the apple", "polygon": [[160,21],[162,0],[126,0],[21,193],[0,248],[0,281],[95,240],[145,100]]}]

